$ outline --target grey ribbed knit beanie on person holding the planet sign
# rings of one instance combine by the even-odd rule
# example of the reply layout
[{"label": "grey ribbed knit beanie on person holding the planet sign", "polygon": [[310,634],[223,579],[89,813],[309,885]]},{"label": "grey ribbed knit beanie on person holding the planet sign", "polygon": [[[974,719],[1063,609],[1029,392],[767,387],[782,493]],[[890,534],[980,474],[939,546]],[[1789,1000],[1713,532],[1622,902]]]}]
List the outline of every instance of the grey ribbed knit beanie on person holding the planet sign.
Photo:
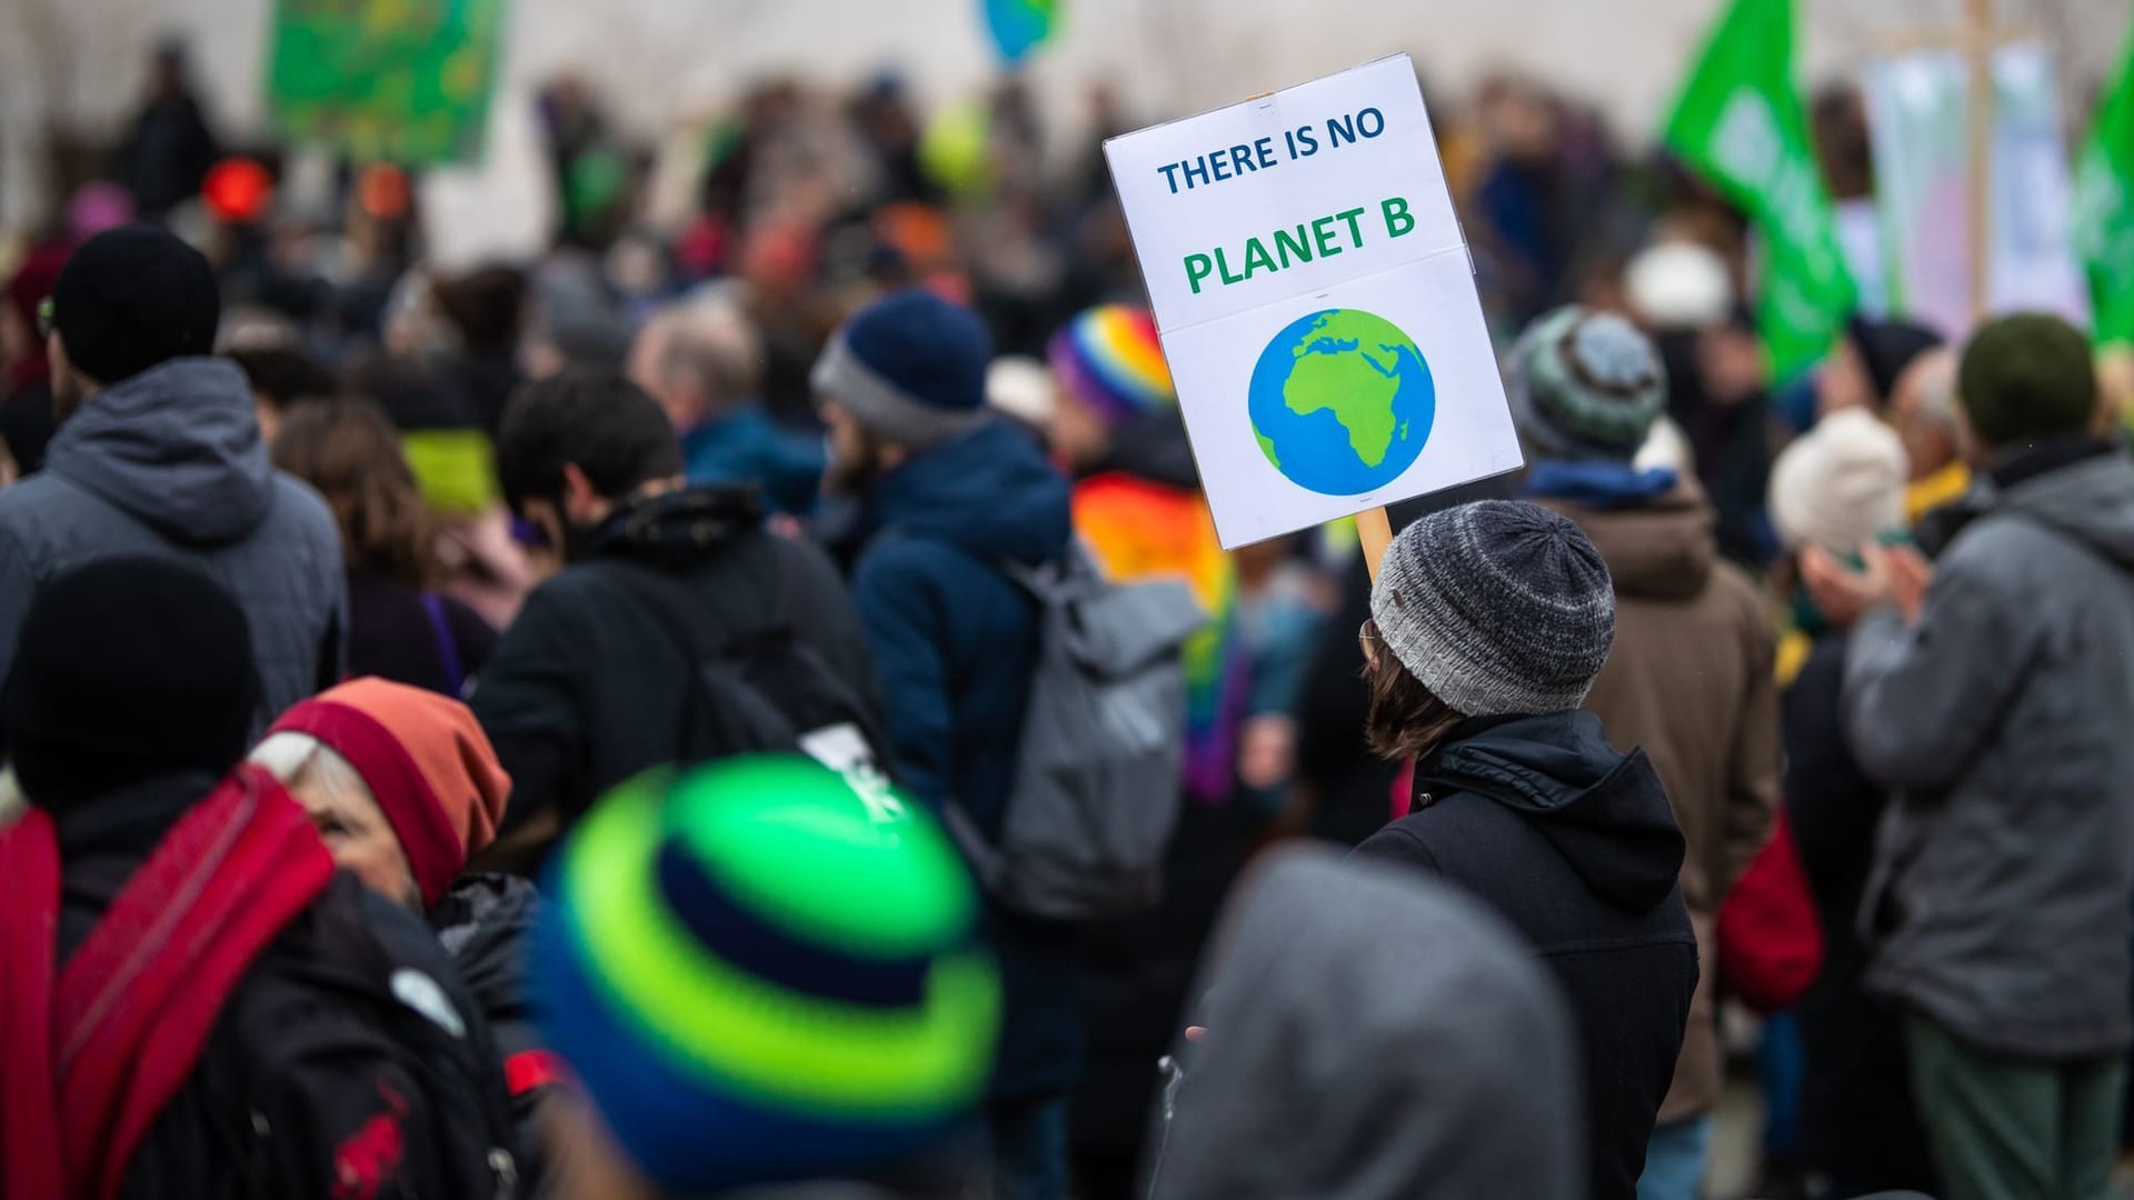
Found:
[{"label": "grey ribbed knit beanie on person holding the planet sign", "polygon": [[1615,585],[1568,519],[1483,500],[1394,538],[1370,617],[1394,658],[1453,711],[1560,713],[1586,702],[1615,645]]}]

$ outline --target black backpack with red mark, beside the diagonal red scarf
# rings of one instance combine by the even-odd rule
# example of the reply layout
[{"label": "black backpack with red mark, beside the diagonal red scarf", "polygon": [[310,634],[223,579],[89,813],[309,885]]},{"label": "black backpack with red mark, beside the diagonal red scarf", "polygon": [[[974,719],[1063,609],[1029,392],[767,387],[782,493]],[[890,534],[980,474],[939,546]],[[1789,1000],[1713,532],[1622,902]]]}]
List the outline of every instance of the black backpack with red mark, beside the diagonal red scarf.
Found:
[{"label": "black backpack with red mark, beside the diagonal red scarf", "polygon": [[339,873],[260,954],[201,1057],[248,1194],[529,1194],[480,1012],[412,916]]}]

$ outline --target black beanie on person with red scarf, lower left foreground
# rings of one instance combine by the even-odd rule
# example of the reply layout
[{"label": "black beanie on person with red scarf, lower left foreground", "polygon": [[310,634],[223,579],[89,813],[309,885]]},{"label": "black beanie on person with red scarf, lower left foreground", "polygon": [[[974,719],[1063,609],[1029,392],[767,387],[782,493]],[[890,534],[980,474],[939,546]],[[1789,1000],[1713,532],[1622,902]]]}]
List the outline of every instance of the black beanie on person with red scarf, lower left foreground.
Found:
[{"label": "black beanie on person with red scarf, lower left foreground", "polygon": [[0,722],[23,794],[53,809],[156,775],[224,775],[258,694],[237,602],[186,564],[122,555],[38,591]]}]

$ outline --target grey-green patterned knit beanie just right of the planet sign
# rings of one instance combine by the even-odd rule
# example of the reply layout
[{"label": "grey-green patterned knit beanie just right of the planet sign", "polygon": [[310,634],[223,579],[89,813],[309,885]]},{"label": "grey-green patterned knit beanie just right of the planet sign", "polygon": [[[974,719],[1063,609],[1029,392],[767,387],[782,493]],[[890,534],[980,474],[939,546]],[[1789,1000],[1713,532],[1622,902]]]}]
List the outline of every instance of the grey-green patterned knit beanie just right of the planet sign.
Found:
[{"label": "grey-green patterned knit beanie just right of the planet sign", "polygon": [[1560,307],[1511,352],[1511,419],[1545,459],[1630,461],[1667,408],[1667,367],[1620,316]]}]

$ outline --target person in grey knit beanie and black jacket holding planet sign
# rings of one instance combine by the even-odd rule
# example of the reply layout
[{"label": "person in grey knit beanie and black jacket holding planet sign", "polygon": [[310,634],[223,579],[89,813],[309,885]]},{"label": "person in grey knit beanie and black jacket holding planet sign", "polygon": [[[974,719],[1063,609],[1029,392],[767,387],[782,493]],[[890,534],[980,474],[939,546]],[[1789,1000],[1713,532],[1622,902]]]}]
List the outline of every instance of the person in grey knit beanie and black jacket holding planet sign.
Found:
[{"label": "person in grey knit beanie and black jacket holding planet sign", "polygon": [[1366,735],[1415,762],[1413,790],[1355,854],[1438,875],[1526,935],[1583,1044],[1579,1194],[1637,1200],[1699,969],[1667,788],[1583,707],[1613,643],[1613,579],[1571,519],[1487,500],[1402,530],[1364,626]]}]

